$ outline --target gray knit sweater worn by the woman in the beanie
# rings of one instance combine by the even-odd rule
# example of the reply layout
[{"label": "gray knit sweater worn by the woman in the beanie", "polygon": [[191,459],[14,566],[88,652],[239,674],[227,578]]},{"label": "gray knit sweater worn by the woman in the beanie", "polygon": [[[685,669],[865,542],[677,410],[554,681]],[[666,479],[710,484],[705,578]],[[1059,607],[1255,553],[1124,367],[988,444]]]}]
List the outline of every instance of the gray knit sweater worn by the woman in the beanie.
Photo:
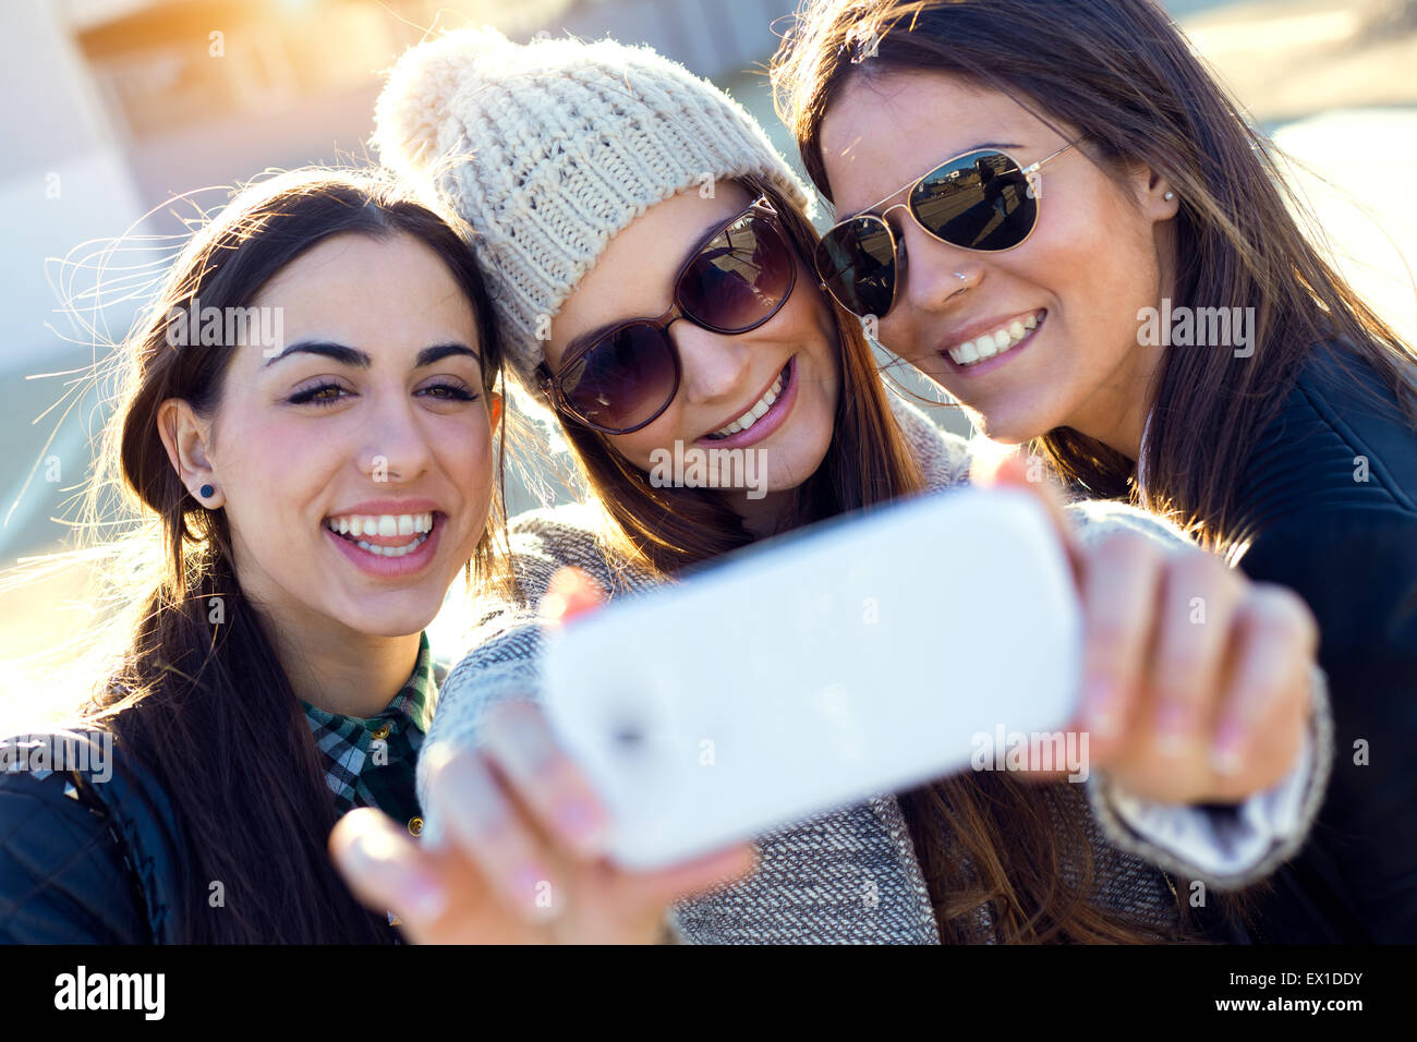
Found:
[{"label": "gray knit sweater worn by the woman in the beanie", "polygon": [[[966,442],[942,432],[897,396],[891,400],[930,489],[965,482]],[[1175,529],[1125,506],[1068,509],[1084,542],[1128,527],[1168,544],[1183,543]],[[656,583],[605,549],[597,537],[599,523],[598,512],[581,503],[533,510],[512,522],[516,603],[499,605],[497,617],[449,675],[428,746],[438,740],[475,746],[479,719],[490,705],[540,698],[541,631],[534,610],[558,567],[584,568],[612,598]],[[948,668],[941,663],[941,669]],[[1302,763],[1275,790],[1251,797],[1238,811],[1136,801],[1115,791],[1101,771],[1093,771],[1081,785],[1063,785],[1093,845],[1095,903],[1173,927],[1179,920],[1173,887],[1189,893],[1197,879],[1221,889],[1244,886],[1292,856],[1318,811],[1329,770],[1332,723],[1322,673],[1316,673],[1314,693],[1315,726]],[[418,790],[427,808],[422,768]],[[425,822],[425,835],[439,831],[436,819]],[[667,926],[676,940],[938,943],[935,914],[896,795],[880,794],[781,828],[755,844],[760,862],[751,878],[670,909]],[[1076,872],[1064,870],[1076,879]]]}]

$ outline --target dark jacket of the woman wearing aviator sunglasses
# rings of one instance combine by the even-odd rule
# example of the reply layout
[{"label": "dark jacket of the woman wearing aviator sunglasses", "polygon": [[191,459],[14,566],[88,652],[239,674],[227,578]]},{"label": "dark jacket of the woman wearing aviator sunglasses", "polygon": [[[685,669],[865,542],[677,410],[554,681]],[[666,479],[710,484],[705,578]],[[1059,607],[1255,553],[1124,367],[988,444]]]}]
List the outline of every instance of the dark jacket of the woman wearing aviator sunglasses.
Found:
[{"label": "dark jacket of the woman wearing aviator sunglasses", "polygon": [[1314,610],[1335,724],[1325,802],[1258,941],[1417,941],[1417,431],[1346,357],[1353,376],[1306,364],[1244,464],[1240,567]]}]

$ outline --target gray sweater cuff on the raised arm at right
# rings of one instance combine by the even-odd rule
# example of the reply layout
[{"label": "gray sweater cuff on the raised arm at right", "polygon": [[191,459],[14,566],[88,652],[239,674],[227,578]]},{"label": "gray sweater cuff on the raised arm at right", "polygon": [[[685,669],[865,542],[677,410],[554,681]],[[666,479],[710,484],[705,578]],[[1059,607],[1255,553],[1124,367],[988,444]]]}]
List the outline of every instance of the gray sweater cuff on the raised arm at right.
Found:
[{"label": "gray sweater cuff on the raised arm at right", "polygon": [[[1085,543],[1129,530],[1168,549],[1189,546],[1172,525],[1108,502],[1067,508]],[[1183,878],[1240,889],[1292,858],[1314,825],[1332,766],[1332,713],[1323,671],[1314,668],[1314,715],[1291,771],[1237,805],[1178,805],[1139,800],[1105,771],[1093,771],[1087,795],[1108,842]]]}]

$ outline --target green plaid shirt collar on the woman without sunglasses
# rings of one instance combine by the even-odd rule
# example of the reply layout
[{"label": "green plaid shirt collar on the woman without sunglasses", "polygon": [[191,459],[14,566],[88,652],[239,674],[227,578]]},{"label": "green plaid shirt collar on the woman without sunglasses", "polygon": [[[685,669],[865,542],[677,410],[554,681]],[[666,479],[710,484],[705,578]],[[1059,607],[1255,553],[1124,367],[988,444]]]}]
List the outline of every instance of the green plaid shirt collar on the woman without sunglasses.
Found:
[{"label": "green plaid shirt collar on the woman without sunglasses", "polygon": [[377,807],[412,835],[422,831],[414,767],[438,705],[442,672],[428,648],[428,634],[422,634],[412,675],[378,716],[336,716],[300,700],[341,814]]}]

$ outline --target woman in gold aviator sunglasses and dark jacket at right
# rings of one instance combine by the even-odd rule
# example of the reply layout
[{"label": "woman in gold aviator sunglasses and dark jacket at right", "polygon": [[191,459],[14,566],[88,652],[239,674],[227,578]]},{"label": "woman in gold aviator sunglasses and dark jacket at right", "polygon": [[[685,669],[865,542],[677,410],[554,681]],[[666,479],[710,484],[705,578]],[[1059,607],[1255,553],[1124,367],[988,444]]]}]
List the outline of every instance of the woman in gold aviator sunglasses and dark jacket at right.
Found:
[{"label": "woman in gold aviator sunglasses and dark jacket at right", "polygon": [[1343,754],[1254,936],[1417,940],[1417,356],[1270,143],[1149,0],[832,0],[774,75],[845,308],[989,437],[1318,615]]}]

